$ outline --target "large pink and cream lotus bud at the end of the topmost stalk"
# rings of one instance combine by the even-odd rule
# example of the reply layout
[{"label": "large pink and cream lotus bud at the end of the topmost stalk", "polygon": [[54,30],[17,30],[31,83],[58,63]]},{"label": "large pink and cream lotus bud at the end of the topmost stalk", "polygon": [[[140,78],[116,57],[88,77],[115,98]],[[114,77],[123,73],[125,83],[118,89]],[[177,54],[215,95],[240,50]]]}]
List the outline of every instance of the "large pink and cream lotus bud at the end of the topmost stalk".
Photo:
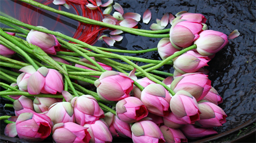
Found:
[{"label": "large pink and cream lotus bud at the end of the topmost stalk", "polygon": [[199,22],[178,20],[170,29],[170,41],[175,48],[187,48],[199,38],[203,31],[203,25]]}]

